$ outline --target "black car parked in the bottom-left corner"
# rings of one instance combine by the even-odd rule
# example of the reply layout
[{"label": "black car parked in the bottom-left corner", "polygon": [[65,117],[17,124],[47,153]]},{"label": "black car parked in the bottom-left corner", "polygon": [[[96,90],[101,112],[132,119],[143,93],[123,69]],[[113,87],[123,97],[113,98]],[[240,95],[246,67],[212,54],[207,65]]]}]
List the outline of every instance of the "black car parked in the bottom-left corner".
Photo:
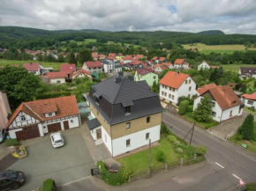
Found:
[{"label": "black car parked in the bottom-left corner", "polygon": [[0,173],[0,190],[18,189],[25,182],[25,174],[7,170]]}]

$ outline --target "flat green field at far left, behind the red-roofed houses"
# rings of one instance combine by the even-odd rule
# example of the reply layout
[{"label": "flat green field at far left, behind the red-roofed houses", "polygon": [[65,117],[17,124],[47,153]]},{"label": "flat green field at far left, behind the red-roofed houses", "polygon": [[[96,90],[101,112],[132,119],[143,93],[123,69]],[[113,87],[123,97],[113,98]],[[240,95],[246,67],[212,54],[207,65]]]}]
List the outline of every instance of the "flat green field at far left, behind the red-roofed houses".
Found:
[{"label": "flat green field at far left, behind the red-roofed houses", "polygon": [[[15,61],[15,60],[3,60],[0,59],[0,67],[1,66],[6,66],[9,64],[14,64],[14,63],[18,63],[20,66],[22,66],[23,63],[35,63],[35,62],[39,62],[39,61]],[[66,62],[63,62],[66,63]],[[44,67],[44,68],[48,68],[48,67],[52,67],[53,70],[59,70],[60,68],[60,64],[62,64],[61,62],[40,62],[40,64]]]}]

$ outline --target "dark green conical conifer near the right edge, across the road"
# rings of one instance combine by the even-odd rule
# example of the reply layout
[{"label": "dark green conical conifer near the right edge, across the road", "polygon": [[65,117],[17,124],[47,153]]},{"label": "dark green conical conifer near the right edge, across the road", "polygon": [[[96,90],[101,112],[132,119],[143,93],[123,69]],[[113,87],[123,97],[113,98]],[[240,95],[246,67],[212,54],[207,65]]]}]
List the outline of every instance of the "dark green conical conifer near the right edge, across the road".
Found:
[{"label": "dark green conical conifer near the right edge, across the road", "polygon": [[243,125],[238,129],[238,133],[243,136],[246,140],[251,140],[253,136],[254,129],[254,116],[252,114],[248,114],[245,117],[245,121]]}]

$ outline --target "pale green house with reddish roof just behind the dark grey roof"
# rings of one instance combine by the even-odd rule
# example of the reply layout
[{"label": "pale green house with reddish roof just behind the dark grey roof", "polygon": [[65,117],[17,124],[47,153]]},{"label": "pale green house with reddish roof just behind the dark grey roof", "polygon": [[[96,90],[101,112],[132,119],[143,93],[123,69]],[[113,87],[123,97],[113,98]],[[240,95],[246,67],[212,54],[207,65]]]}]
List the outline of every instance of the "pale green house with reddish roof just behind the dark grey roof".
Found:
[{"label": "pale green house with reddish roof just behind the dark grey roof", "polygon": [[152,86],[154,81],[158,83],[158,75],[153,73],[153,69],[139,69],[136,70],[134,81],[146,80],[149,86]]}]

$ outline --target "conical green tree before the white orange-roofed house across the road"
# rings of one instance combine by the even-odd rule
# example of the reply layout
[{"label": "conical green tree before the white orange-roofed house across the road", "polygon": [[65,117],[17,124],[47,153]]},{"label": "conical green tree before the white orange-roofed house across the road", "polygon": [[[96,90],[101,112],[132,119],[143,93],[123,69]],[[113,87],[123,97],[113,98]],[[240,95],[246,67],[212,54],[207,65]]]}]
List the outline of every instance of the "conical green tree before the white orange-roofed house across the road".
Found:
[{"label": "conical green tree before the white orange-roofed house across the road", "polygon": [[197,121],[209,122],[212,120],[212,103],[209,94],[206,94],[203,99],[201,99],[198,107],[193,111],[193,117]]}]

